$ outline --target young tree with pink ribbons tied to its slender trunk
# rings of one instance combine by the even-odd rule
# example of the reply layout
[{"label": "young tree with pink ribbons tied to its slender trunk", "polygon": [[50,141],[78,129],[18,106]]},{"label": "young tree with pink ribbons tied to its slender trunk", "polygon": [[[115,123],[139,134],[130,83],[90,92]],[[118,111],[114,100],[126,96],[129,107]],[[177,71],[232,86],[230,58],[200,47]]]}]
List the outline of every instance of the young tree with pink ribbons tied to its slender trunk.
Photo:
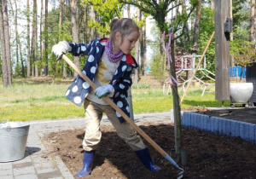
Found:
[{"label": "young tree with pink ribbons tied to its slender trunk", "polygon": [[[172,9],[176,9],[178,6],[181,5],[181,3],[177,3],[176,0],[162,0],[162,1],[156,1],[156,0],[144,0],[141,3],[138,3],[136,0],[120,0],[122,3],[128,3],[137,6],[137,8],[141,9],[143,12],[152,15],[154,20],[157,23],[157,26],[160,29],[160,39],[161,42],[165,39],[162,39],[162,34],[164,32],[169,32],[170,28],[168,25],[168,22],[166,21],[166,16],[168,12],[170,12]],[[175,5],[171,6],[171,3],[177,3]],[[178,34],[179,29],[183,29],[185,23],[189,19],[189,15],[192,13],[192,11],[195,9],[198,1],[197,0],[191,0],[191,7],[189,8],[189,14],[182,14],[178,13],[176,14],[175,20],[172,21],[172,32],[174,34],[177,33],[176,37],[172,38],[172,59],[174,59],[174,41],[177,38],[180,38],[183,36],[183,31]],[[162,48],[160,47],[160,52],[162,53]],[[172,72],[172,77],[176,78],[176,71],[175,71],[175,62],[172,61],[170,65],[170,72]],[[176,155],[177,159],[181,159],[181,150],[182,150],[182,130],[181,130],[181,109],[179,105],[179,96],[177,93],[177,85],[172,85],[172,97],[173,97],[173,112],[174,112],[174,118],[175,118],[175,138],[176,138]]]}]

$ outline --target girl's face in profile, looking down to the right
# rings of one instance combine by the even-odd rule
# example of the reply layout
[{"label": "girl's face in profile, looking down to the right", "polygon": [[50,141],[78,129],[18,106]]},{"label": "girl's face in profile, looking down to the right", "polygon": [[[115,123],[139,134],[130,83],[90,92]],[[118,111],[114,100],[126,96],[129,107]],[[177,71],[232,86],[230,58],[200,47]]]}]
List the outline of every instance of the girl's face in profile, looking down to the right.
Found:
[{"label": "girl's face in profile, looking down to the right", "polygon": [[131,53],[131,49],[135,47],[135,43],[139,38],[139,32],[133,31],[129,35],[126,35],[123,39],[121,38],[120,32],[116,32],[115,34],[115,43],[113,47],[113,54],[122,51],[125,55]]}]

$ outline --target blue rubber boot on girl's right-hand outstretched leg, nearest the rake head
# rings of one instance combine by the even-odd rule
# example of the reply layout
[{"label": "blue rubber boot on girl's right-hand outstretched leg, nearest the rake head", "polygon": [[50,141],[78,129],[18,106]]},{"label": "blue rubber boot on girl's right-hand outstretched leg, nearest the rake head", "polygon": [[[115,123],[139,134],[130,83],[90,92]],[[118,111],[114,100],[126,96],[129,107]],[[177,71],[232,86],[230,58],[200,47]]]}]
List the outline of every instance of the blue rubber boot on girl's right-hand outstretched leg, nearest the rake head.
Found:
[{"label": "blue rubber boot on girl's right-hand outstretched leg, nearest the rake head", "polygon": [[154,162],[152,161],[151,156],[148,152],[148,148],[137,150],[135,151],[135,153],[137,154],[137,157],[142,161],[143,165],[145,165],[148,170],[151,170],[154,173],[161,170],[159,166],[154,165]]}]

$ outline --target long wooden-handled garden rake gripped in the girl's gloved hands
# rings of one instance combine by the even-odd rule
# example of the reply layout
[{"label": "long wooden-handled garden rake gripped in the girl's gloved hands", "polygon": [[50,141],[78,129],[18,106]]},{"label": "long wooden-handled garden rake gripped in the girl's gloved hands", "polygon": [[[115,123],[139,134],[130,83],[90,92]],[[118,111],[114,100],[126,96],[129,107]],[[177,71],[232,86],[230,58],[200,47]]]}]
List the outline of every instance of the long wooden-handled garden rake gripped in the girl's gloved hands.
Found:
[{"label": "long wooden-handled garden rake gripped in the girl's gloved hands", "polygon": [[[81,78],[83,78],[88,84],[90,84],[90,86],[92,87],[93,90],[96,90],[96,85],[90,80],[90,78],[86,77],[84,75],[83,72],[80,71],[80,69],[75,66],[75,64],[70,61],[67,57],[67,55],[62,55],[61,56],[62,59],[64,61],[67,62],[67,64],[69,66],[71,66],[75,72],[77,72],[79,74],[79,76]],[[113,103],[113,101],[108,97],[108,96],[104,96],[102,97],[102,99],[104,99],[105,101],[108,102],[108,104],[113,107],[114,110],[116,110],[123,118],[125,118],[125,121],[131,125],[131,127],[137,131],[137,133],[139,133],[141,136],[143,136],[143,138],[148,141],[148,143],[150,143],[154,149],[156,149],[162,156],[164,156],[169,162],[172,163],[172,165],[176,166],[178,170],[182,170],[181,173],[179,173],[179,176],[181,176],[183,174],[183,169],[180,168],[176,162],[158,145],[156,144],[142,129],[140,129],[137,124],[135,124],[131,118],[129,118],[115,103]]]}]

